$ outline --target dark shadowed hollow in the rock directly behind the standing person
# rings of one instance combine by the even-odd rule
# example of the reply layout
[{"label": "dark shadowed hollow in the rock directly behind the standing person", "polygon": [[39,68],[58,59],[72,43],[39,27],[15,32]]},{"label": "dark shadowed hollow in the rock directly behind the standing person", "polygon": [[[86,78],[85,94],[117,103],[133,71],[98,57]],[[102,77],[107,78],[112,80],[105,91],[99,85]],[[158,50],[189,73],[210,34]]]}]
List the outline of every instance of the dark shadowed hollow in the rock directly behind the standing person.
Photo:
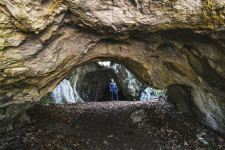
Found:
[{"label": "dark shadowed hollow in the rock directly behind the standing person", "polygon": [[109,88],[110,79],[114,79],[119,89],[119,100],[128,100],[124,96],[123,89],[112,69],[101,69],[89,72],[81,76],[77,82],[78,94],[85,102],[90,101],[110,101],[111,92]]}]

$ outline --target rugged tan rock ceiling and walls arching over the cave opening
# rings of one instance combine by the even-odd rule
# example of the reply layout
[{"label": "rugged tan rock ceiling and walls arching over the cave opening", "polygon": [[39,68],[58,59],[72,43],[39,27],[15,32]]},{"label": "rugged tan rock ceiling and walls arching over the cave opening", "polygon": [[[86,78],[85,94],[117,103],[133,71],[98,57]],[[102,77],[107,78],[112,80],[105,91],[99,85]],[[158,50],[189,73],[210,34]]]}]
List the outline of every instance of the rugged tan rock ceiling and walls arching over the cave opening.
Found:
[{"label": "rugged tan rock ceiling and walls arching over the cave opening", "polygon": [[224,16],[223,0],[0,0],[0,109],[111,59],[152,87],[189,86],[199,119],[225,132]]}]

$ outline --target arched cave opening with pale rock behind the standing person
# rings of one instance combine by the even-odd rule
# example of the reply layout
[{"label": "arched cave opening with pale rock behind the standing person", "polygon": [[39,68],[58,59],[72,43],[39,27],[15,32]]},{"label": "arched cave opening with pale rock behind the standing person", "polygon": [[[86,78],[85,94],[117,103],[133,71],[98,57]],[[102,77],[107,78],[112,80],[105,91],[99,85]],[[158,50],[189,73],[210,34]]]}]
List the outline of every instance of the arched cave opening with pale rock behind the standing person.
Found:
[{"label": "arched cave opening with pale rock behind the standing person", "polygon": [[[111,101],[110,82],[118,87],[119,101],[145,101],[165,97],[166,90],[156,90],[141,83],[125,66],[113,61],[94,61],[76,68],[40,104]],[[113,100],[116,95],[113,94]]]}]

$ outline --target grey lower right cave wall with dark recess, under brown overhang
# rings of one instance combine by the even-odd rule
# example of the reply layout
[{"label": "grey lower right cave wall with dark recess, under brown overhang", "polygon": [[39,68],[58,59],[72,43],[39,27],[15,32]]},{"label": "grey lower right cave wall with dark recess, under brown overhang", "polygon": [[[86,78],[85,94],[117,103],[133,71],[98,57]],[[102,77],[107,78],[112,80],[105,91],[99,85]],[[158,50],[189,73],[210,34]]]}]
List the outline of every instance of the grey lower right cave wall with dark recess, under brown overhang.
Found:
[{"label": "grey lower right cave wall with dark recess, under brown overhang", "polygon": [[[180,111],[193,113],[204,120],[204,123],[213,129],[224,132],[224,94],[215,91],[215,97],[208,90],[192,89],[184,85],[167,87],[167,100],[173,103]],[[216,100],[215,100],[216,98]]]}]

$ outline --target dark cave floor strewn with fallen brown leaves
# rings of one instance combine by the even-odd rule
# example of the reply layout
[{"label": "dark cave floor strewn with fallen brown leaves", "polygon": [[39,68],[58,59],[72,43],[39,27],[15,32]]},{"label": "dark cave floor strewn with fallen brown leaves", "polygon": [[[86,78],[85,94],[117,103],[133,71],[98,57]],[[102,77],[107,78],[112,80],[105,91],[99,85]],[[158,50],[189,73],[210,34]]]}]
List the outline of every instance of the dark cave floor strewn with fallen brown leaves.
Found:
[{"label": "dark cave floor strewn with fallen brown leaves", "polygon": [[30,123],[2,135],[0,149],[225,149],[224,135],[165,101],[37,105],[28,113]]}]

